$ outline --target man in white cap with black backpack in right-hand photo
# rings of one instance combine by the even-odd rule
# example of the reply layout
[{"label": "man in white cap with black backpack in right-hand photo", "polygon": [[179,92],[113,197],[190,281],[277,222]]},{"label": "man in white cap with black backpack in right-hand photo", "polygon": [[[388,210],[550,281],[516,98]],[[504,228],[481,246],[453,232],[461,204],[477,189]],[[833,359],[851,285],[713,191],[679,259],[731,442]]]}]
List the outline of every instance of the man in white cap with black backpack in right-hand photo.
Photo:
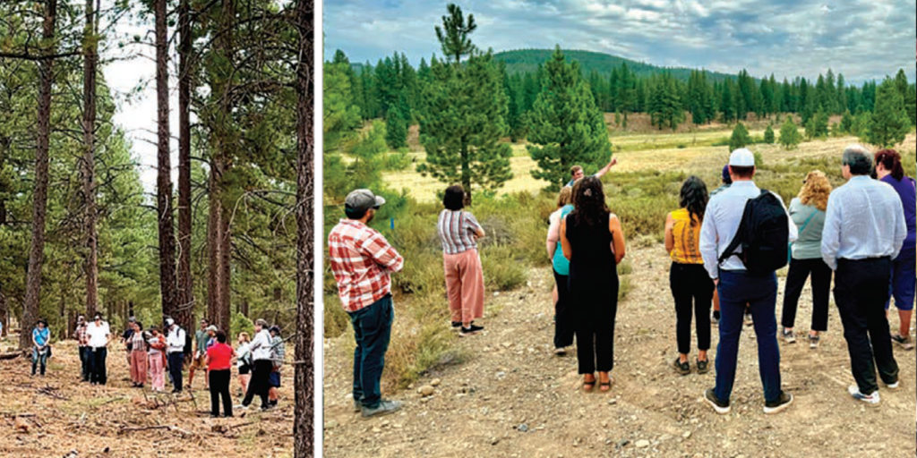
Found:
[{"label": "man in white cap with black backpack in right-hand photo", "polygon": [[[701,256],[720,296],[720,344],[716,352],[716,387],[704,398],[720,414],[730,411],[735,384],[739,339],[742,335],[746,304],[754,316],[758,343],[758,365],[764,384],[765,413],[777,413],[790,406],[793,398],[780,388],[780,354],[777,344],[777,275],[775,272],[754,274],[744,261],[729,256],[720,263],[733,239],[738,235],[746,203],[762,195],[755,185],[755,155],[745,149],[735,150],[729,158],[733,184],[710,200],[701,228]],[[776,195],[775,195],[776,196]],[[776,196],[780,205],[783,201]],[[786,212],[786,207],[783,207]],[[796,225],[787,213],[790,242],[798,235]],[[741,247],[740,247],[741,248]],[[786,248],[783,252],[786,253]],[[786,255],[784,255],[786,256]]]}]

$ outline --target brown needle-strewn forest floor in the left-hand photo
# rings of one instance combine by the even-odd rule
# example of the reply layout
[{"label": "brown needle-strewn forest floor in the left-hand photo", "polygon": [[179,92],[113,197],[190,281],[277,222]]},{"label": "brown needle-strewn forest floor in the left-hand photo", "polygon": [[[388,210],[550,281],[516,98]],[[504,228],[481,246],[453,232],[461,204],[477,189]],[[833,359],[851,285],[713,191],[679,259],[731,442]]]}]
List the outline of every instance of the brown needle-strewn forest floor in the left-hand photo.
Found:
[{"label": "brown needle-strewn forest floor in the left-hand photo", "polygon": [[[4,346],[16,339],[8,337]],[[191,393],[157,396],[149,386],[130,387],[125,353],[113,351],[108,354],[108,385],[94,387],[80,381],[75,342],[56,344],[53,350],[45,377],[30,376],[27,358],[0,361],[0,456],[293,456],[289,366],[282,373],[278,409],[236,411],[232,419],[212,420],[210,393],[200,372]],[[241,401],[239,389],[233,370],[234,404]]]}]

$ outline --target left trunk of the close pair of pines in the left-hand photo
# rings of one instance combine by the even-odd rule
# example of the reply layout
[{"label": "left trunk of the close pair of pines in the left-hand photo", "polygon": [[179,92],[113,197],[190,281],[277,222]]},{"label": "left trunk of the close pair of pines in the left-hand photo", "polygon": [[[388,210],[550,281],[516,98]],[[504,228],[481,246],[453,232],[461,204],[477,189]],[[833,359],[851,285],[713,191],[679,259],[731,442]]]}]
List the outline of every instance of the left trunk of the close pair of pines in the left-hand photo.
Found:
[{"label": "left trunk of the close pair of pines in the left-hand photo", "polygon": [[160,294],[162,313],[175,313],[175,233],[172,227],[171,158],[169,157],[169,66],[167,0],[155,0],[156,16],[156,101],[159,142],[156,203],[160,231]]}]

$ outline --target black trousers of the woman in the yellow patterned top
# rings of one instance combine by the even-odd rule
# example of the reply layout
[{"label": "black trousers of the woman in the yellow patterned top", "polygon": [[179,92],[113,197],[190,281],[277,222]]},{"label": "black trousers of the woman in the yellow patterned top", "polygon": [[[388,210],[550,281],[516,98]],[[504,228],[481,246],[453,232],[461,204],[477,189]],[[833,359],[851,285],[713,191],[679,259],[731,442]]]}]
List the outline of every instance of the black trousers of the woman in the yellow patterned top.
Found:
[{"label": "black trousers of the woman in the yellow patterned top", "polygon": [[697,348],[710,350],[713,280],[702,264],[672,263],[668,283],[675,299],[679,354],[691,353],[691,318],[697,322]]}]

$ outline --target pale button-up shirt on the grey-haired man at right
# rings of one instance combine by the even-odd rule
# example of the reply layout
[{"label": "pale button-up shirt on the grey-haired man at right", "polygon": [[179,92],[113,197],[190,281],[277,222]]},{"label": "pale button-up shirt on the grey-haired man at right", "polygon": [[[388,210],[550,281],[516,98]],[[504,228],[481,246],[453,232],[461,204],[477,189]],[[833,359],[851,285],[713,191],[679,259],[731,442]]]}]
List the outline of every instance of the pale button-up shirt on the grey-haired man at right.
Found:
[{"label": "pale button-up shirt on the grey-haired man at right", "polygon": [[908,236],[898,192],[869,177],[854,177],[834,190],[825,213],[822,257],[834,270],[838,259],[894,259]]}]

